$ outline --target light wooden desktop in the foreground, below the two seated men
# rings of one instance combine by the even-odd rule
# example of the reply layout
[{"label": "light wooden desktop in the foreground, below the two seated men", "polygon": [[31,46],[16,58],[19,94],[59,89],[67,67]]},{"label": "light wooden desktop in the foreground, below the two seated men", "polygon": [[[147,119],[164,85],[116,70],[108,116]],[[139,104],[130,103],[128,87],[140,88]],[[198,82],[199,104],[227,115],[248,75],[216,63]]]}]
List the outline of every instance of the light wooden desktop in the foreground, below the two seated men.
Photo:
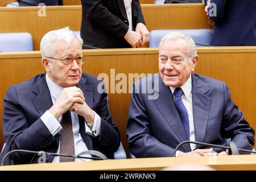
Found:
[{"label": "light wooden desktop in the foreground, below the two seated men", "polygon": [[[98,160],[90,162],[24,164],[1,166],[0,171],[90,171],[90,170],[160,170],[174,164],[204,164],[217,170],[256,170],[256,155],[202,156],[198,158],[141,158]],[[193,170],[193,169],[192,169]]]}]

